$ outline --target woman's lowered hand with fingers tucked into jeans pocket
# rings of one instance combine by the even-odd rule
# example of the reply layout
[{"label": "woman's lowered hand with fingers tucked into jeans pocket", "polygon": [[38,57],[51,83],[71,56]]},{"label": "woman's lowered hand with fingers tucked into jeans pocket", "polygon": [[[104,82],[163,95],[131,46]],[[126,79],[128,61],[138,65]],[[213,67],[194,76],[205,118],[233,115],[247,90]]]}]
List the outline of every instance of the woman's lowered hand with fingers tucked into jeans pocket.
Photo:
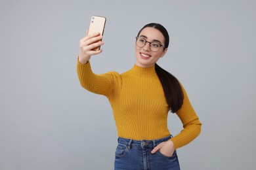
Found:
[{"label": "woman's lowered hand with fingers tucked into jeans pocket", "polygon": [[173,152],[174,152],[173,141],[166,141],[166,142],[162,142],[162,143],[158,144],[158,146],[156,146],[151,151],[151,153],[154,154],[158,150],[160,150],[161,154],[163,154],[164,156],[167,156],[167,157],[173,156]]}]

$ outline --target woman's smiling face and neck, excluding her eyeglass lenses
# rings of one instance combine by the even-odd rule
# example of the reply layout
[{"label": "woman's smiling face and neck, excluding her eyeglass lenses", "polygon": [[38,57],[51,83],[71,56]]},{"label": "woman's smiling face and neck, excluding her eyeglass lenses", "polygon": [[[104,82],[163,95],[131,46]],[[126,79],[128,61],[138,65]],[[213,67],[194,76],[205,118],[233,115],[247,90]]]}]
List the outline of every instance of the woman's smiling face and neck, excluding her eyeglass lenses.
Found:
[{"label": "woman's smiling face and neck, excluding her eyeglass lenses", "polygon": [[[164,45],[165,42],[163,34],[154,27],[145,27],[140,32],[139,37],[143,37],[148,42],[160,42],[162,45]],[[142,47],[135,44],[135,65],[139,67],[153,67],[156,61],[162,58],[167,52],[167,48],[163,50],[163,46],[161,46],[157,52],[153,52],[148,42]]]}]

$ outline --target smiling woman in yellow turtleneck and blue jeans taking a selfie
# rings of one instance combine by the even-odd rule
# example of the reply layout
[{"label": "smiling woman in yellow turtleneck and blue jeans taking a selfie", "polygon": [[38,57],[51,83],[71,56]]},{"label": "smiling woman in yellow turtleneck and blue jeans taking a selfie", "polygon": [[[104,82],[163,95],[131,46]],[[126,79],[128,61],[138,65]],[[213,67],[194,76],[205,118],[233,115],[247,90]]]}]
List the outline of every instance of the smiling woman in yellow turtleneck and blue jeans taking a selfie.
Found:
[{"label": "smiling woman in yellow turtleneck and blue jeans taking a selfie", "polygon": [[[99,33],[81,39],[77,75],[83,88],[110,101],[119,136],[115,169],[180,169],[176,150],[200,134],[201,123],[181,83],[156,64],[167,52],[167,30],[155,23],[142,27],[135,65],[122,74],[95,75],[91,70],[89,59],[102,52],[91,49],[104,44],[100,39]],[[184,127],[175,137],[167,128],[169,111]]]}]

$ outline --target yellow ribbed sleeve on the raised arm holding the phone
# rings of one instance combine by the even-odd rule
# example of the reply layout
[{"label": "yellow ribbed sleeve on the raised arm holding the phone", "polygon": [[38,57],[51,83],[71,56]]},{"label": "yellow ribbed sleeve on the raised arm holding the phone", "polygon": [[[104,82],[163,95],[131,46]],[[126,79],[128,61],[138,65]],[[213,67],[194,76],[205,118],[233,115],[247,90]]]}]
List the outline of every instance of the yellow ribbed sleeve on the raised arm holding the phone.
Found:
[{"label": "yellow ribbed sleeve on the raised arm holding the phone", "polygon": [[77,76],[80,84],[86,90],[100,95],[111,95],[114,88],[114,76],[112,73],[96,75],[88,61],[86,64],[79,63],[77,59]]}]

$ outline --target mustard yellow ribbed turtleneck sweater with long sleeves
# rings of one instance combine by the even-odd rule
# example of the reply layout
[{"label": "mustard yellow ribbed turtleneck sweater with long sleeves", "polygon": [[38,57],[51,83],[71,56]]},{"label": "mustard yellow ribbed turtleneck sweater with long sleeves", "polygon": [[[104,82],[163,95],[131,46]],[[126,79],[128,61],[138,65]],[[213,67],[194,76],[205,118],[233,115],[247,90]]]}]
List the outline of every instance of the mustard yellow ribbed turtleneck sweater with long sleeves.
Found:
[{"label": "mustard yellow ribbed turtleneck sweater with long sleeves", "polygon": [[[155,68],[133,68],[121,75],[108,72],[96,75],[90,62],[77,60],[77,75],[81,86],[108,97],[112,106],[119,137],[153,140],[170,135],[167,128],[168,105]],[[184,102],[177,115],[184,129],[171,138],[175,149],[190,143],[201,131],[201,123],[182,87]]]}]

